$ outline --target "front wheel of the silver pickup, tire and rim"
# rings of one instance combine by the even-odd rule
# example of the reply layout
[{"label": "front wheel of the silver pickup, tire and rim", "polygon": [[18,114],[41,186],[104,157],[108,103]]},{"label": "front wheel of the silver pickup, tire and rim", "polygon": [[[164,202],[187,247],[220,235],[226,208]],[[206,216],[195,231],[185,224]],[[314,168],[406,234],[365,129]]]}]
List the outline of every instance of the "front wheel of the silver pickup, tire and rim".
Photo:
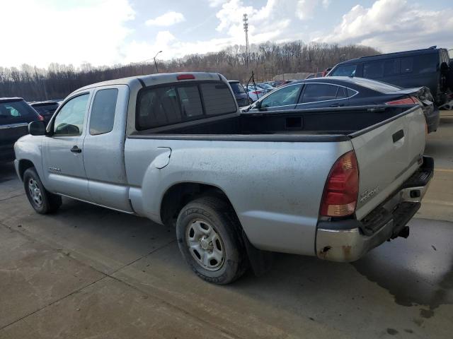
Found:
[{"label": "front wheel of the silver pickup, tire and rim", "polygon": [[23,173],[23,187],[30,205],[40,214],[55,212],[62,206],[62,197],[44,188],[34,167],[26,169]]}]

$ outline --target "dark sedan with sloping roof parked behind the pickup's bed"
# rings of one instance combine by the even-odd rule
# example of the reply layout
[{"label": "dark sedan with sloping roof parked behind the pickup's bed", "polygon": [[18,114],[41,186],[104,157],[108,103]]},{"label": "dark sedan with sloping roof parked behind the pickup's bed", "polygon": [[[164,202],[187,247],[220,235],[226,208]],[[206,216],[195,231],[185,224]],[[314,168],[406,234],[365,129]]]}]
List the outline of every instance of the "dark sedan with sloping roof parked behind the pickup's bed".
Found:
[{"label": "dark sedan with sloping roof parked behind the pickup's bed", "polygon": [[295,81],[265,95],[248,109],[277,111],[362,105],[420,105],[425,113],[428,133],[439,126],[439,109],[433,104],[429,88],[400,88],[365,78],[330,76]]}]

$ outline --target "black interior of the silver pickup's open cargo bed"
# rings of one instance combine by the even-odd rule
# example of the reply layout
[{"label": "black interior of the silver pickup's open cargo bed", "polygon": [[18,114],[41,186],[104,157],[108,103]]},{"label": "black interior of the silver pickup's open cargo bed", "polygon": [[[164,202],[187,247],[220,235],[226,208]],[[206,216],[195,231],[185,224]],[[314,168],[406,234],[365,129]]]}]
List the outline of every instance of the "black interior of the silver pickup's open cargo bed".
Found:
[{"label": "black interior of the silver pickup's open cargo bed", "polygon": [[[405,112],[408,107],[370,106],[273,111],[213,117],[202,121],[163,126],[138,131],[133,136],[171,135],[185,138],[209,136],[274,136],[270,141],[289,141],[288,136],[306,136],[300,141],[341,141],[357,131],[367,129]],[[275,138],[275,136],[281,136]],[[217,138],[215,138],[217,139]],[[247,138],[249,140],[249,138]],[[265,139],[265,138],[260,138]],[[299,139],[299,138],[297,138]],[[294,140],[296,141],[296,140]]]}]

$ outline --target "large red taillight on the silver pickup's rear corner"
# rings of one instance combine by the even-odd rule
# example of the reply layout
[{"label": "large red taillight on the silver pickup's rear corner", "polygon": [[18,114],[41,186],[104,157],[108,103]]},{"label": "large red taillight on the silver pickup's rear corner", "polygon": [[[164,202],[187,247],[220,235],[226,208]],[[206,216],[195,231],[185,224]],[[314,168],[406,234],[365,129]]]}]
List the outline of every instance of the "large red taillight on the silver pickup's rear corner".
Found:
[{"label": "large red taillight on the silver pickup's rear corner", "polygon": [[321,202],[321,215],[345,217],[355,212],[359,193],[359,167],[355,153],[343,154],[328,174]]}]

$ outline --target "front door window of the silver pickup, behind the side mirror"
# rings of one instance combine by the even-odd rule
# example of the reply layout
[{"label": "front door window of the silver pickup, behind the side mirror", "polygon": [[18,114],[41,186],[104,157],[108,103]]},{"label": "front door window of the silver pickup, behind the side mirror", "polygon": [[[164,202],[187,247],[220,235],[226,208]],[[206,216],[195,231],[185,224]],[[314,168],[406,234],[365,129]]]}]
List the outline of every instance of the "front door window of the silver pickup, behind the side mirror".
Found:
[{"label": "front door window of the silver pickup, behind the side mirror", "polygon": [[80,136],[84,131],[84,119],[88,93],[72,98],[59,110],[54,121],[54,136]]}]

